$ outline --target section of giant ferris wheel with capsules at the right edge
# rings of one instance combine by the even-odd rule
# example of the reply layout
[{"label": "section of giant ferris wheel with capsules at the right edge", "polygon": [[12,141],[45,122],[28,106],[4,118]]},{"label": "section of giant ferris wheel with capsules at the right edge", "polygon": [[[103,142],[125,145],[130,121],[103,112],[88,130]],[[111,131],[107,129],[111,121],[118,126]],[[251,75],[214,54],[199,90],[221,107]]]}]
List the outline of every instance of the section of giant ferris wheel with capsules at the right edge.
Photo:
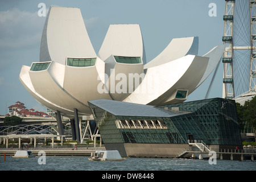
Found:
[{"label": "section of giant ferris wheel with capsules at the right edge", "polygon": [[254,93],[256,88],[256,1],[225,0],[224,36],[226,49],[223,97]]}]

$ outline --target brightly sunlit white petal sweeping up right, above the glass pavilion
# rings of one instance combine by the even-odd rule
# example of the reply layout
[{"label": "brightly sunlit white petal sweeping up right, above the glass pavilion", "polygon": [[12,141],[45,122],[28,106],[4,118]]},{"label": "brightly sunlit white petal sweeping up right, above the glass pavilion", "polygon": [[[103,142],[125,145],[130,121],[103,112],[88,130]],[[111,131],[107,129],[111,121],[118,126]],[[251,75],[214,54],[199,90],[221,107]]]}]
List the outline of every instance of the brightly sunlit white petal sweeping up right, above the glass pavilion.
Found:
[{"label": "brightly sunlit white petal sweeping up right, above the glass pavilion", "polygon": [[174,102],[176,99],[173,96],[178,89],[188,90],[189,94],[196,87],[207,68],[208,60],[208,57],[187,55],[148,68],[141,85],[123,101],[149,105]]}]

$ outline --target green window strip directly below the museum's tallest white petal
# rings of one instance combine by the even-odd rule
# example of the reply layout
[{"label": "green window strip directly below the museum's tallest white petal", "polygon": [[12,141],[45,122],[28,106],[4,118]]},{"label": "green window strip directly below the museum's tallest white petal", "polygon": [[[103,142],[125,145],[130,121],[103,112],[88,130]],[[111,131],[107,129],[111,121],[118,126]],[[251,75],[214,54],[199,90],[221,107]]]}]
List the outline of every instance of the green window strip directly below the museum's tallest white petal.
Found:
[{"label": "green window strip directly below the museum's tallest white petal", "polygon": [[82,58],[82,59],[77,59],[77,58],[68,58],[68,66],[71,67],[91,67],[94,66],[96,63],[96,58]]}]

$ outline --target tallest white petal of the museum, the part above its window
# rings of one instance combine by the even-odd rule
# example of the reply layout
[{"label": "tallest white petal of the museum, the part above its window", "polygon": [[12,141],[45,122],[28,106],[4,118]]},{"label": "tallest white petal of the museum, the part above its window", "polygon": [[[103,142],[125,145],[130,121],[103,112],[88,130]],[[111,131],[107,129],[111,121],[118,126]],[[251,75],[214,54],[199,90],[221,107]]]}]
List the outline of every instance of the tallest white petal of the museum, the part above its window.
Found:
[{"label": "tallest white petal of the museum, the part above its window", "polygon": [[71,7],[49,9],[40,47],[40,61],[65,65],[66,57],[96,57],[81,11]]}]

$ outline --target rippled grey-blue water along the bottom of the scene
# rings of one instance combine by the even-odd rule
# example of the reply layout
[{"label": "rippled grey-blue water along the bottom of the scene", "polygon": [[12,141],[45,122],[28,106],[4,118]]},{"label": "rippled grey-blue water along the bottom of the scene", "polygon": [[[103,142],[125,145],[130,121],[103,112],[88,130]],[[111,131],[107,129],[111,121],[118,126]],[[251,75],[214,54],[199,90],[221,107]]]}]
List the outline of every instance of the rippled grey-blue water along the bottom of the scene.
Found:
[{"label": "rippled grey-blue water along the bottom of the scene", "polygon": [[210,165],[208,160],[127,158],[122,162],[94,162],[88,156],[46,156],[46,164],[35,158],[12,158],[0,156],[0,171],[256,171],[256,162],[217,160]]}]

